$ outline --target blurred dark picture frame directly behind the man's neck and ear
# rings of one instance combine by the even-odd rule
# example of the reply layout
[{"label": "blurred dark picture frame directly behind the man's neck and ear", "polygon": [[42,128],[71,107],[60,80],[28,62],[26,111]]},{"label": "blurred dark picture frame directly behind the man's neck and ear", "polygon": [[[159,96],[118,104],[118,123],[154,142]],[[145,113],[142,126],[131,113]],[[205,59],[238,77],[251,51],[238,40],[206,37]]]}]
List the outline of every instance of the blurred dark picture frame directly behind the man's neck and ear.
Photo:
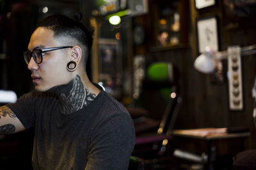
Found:
[{"label": "blurred dark picture frame directly behind the man's neck and ear", "polygon": [[117,39],[99,39],[99,82],[113,97],[121,95],[122,56]]}]

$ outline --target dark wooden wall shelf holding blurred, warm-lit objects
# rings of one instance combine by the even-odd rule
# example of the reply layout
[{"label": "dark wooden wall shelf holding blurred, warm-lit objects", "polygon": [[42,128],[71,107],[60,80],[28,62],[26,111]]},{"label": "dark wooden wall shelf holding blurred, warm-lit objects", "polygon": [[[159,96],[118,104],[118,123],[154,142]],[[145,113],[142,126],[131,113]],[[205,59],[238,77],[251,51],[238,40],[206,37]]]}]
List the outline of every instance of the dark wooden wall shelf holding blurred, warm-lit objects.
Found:
[{"label": "dark wooden wall shelf holding blurred, warm-lit objects", "polygon": [[152,28],[154,28],[152,29],[154,46],[150,51],[188,47],[186,45],[188,43],[188,4],[184,0],[172,2],[153,0],[150,7],[150,17],[153,18]]}]

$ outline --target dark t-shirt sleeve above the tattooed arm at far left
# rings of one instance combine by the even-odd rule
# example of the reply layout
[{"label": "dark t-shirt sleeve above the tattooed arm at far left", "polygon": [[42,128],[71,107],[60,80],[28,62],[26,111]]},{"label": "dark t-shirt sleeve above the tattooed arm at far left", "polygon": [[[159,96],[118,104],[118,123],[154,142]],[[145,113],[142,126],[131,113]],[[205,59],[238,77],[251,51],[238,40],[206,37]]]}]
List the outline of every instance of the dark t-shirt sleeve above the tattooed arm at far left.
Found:
[{"label": "dark t-shirt sleeve above the tattooed arm at far left", "polygon": [[16,103],[9,103],[6,106],[19,118],[25,129],[35,125],[35,99],[32,92],[19,97]]}]

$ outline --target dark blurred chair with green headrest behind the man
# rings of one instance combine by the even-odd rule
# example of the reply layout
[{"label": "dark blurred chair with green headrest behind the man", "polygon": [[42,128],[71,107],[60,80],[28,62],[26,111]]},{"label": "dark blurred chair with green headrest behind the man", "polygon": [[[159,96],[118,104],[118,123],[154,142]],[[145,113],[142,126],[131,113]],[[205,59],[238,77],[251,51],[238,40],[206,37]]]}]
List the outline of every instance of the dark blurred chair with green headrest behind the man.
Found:
[{"label": "dark blurred chair with green headrest behind the man", "polygon": [[[140,99],[134,102],[143,109],[128,108],[136,130],[133,155],[156,159],[164,154],[168,141],[172,139],[173,125],[182,104],[174,70],[170,62],[155,62],[147,68]],[[152,101],[159,103],[152,104]],[[154,108],[155,113],[152,113]]]}]

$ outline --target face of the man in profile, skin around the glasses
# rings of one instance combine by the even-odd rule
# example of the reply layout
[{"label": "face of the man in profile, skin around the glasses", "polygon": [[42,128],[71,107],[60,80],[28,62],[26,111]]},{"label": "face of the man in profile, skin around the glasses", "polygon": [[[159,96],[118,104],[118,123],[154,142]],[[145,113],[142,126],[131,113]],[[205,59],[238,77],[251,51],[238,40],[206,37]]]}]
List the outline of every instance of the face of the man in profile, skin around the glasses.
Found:
[{"label": "face of the man in profile, skin around the glasses", "polygon": [[[38,27],[31,36],[28,50],[32,52],[35,48],[63,46],[57,39],[54,39],[53,34],[54,32],[50,29]],[[56,85],[67,84],[72,79],[67,71],[68,56],[71,55],[71,48],[44,52],[40,64],[36,64],[31,57],[28,69],[32,72],[35,90],[44,92]]]}]

